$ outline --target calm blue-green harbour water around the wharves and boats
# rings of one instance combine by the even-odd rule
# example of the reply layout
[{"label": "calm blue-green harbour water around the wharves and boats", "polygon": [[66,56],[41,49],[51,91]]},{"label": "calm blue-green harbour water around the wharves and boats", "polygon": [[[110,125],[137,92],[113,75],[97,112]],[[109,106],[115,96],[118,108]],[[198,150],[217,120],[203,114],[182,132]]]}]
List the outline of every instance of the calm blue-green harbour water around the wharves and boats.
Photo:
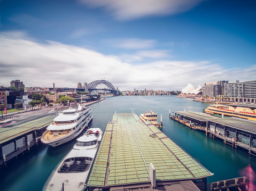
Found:
[{"label": "calm blue-green harbour water around the wharves and boats", "polygon": [[[105,129],[106,123],[111,121],[115,111],[117,113],[131,113],[137,115],[150,109],[163,115],[162,131],[175,143],[181,146],[205,168],[214,173],[207,178],[207,182],[244,176],[248,161],[256,171],[256,157],[249,156],[245,151],[233,150],[220,140],[206,137],[204,132],[191,130],[182,124],[169,119],[170,111],[201,112],[208,104],[193,102],[192,99],[174,96],[123,96],[108,97],[105,101],[91,105],[94,118],[90,128]],[[52,148],[40,145],[25,156],[19,156],[16,162],[9,164],[7,171],[0,171],[0,190],[42,190],[46,179],[59,161],[71,150],[75,140],[71,143]]]}]

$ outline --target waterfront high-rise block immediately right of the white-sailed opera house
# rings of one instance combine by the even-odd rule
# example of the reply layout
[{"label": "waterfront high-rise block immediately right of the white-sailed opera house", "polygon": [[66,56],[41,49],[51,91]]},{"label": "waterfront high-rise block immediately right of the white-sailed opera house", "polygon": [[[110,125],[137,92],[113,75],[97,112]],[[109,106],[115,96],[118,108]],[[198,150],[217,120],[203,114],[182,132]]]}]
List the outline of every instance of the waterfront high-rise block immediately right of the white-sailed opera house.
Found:
[{"label": "waterfront high-rise block immediately right of the white-sailed opera house", "polygon": [[224,84],[228,81],[213,81],[204,83],[203,96],[216,97],[224,95]]}]

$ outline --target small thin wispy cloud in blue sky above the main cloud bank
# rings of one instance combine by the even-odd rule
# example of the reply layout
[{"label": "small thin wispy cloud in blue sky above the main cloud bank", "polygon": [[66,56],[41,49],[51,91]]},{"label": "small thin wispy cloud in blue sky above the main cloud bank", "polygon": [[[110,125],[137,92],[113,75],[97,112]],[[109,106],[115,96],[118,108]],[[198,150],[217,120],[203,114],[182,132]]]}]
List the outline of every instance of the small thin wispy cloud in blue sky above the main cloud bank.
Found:
[{"label": "small thin wispy cloud in blue sky above the main cloud bank", "polygon": [[123,49],[149,49],[156,45],[157,41],[153,39],[108,39],[104,40],[104,43],[109,44],[112,47]]}]

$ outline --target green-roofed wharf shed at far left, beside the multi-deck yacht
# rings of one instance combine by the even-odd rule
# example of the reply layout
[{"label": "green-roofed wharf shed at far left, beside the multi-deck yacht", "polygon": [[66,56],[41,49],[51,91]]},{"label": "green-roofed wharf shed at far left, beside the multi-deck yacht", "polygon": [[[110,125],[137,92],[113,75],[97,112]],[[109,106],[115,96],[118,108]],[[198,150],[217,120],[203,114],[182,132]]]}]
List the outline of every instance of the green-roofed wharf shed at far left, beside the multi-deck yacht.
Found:
[{"label": "green-roofed wharf shed at far left, beside the multi-deck yacht", "polygon": [[48,115],[40,119],[19,124],[14,127],[0,128],[0,168],[19,154],[30,151],[38,143],[46,127],[54,116]]}]

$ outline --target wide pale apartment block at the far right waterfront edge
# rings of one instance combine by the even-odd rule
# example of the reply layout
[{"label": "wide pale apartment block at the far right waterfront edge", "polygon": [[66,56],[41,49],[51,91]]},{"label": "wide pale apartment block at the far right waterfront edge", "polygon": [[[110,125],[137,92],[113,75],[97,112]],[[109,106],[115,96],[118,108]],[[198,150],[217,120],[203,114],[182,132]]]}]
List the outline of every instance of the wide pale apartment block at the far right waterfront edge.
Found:
[{"label": "wide pale apartment block at the far right waterfront edge", "polygon": [[235,102],[256,103],[256,80],[224,84],[224,95]]}]

